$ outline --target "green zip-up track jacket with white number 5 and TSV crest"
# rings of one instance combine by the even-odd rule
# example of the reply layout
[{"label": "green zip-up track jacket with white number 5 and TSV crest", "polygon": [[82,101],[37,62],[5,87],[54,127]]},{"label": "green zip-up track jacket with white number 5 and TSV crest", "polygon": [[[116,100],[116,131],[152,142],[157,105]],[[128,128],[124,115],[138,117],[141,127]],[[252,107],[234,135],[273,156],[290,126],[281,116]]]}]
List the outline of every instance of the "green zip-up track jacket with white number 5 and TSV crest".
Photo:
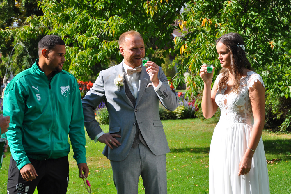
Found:
[{"label": "green zip-up track jacket with white number 5 and TSV crest", "polygon": [[62,70],[52,78],[38,66],[17,74],[4,93],[3,115],[9,115],[7,140],[11,155],[20,170],[36,160],[55,159],[70,152],[86,163],[84,118],[79,86],[75,77]]}]

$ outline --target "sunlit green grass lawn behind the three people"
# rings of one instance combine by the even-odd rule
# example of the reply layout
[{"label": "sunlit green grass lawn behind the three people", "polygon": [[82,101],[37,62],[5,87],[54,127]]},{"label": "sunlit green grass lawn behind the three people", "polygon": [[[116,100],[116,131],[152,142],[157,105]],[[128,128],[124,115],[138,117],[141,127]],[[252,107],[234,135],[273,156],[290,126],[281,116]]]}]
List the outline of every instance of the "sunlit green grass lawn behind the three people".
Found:
[{"label": "sunlit green grass lawn behind the three people", "polygon": [[[186,119],[162,121],[171,153],[167,157],[168,193],[208,192],[209,146],[216,125],[214,119]],[[108,125],[101,126],[104,131]],[[263,132],[262,138],[268,160],[270,192],[272,194],[291,193],[291,135]],[[88,180],[92,193],[116,193],[110,161],[102,155],[104,144],[91,141],[86,135],[86,156],[90,169]],[[79,171],[73,152],[69,154],[70,180],[67,193],[88,193]],[[0,193],[6,193],[10,155],[4,159],[0,169]],[[35,192],[37,193],[37,191]],[[142,179],[139,193],[144,193]]]}]

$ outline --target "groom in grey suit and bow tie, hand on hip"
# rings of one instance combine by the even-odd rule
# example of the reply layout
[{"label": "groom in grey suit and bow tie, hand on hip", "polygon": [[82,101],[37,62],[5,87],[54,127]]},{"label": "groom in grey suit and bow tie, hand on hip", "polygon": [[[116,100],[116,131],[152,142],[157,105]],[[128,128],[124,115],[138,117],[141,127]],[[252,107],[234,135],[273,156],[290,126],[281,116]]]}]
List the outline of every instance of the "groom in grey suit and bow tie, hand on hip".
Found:
[{"label": "groom in grey suit and bow tie, hand on hip", "polygon": [[[175,110],[178,99],[162,68],[152,61],[143,66],[142,36],[123,33],[119,40],[123,61],[103,70],[82,99],[84,125],[89,137],[105,143],[103,154],[110,160],[118,194],[138,193],[139,176],[145,193],[167,193],[166,153],[170,152],[159,101]],[[109,133],[95,120],[94,110],[104,100],[109,113]]]}]

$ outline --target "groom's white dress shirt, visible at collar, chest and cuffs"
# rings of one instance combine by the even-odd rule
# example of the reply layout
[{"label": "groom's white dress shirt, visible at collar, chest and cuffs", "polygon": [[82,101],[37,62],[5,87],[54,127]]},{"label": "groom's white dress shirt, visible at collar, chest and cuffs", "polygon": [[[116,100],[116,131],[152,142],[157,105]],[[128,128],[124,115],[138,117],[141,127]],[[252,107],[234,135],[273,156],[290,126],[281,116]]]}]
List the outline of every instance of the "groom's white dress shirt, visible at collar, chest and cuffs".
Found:
[{"label": "groom's white dress shirt, visible at collar, chest and cuffs", "polygon": [[[126,65],[124,63],[124,60],[122,61],[122,65],[123,65],[123,70],[124,70],[124,77],[126,79],[128,87],[130,89],[130,92],[132,93],[132,95],[135,98],[137,98],[137,94],[138,94],[138,90],[139,90],[140,73],[133,72],[133,74],[127,75],[127,69],[133,69],[133,68]],[[138,67],[140,67],[140,66],[138,66]],[[135,67],[135,68],[138,68],[138,67]],[[152,86],[153,86],[155,91],[158,91],[162,86],[161,80],[159,80],[159,85],[157,87],[155,87],[154,85],[152,85]],[[104,132],[102,131],[94,138],[95,143],[98,141],[98,138],[100,138],[100,136],[102,136],[103,134],[104,134]]]}]

